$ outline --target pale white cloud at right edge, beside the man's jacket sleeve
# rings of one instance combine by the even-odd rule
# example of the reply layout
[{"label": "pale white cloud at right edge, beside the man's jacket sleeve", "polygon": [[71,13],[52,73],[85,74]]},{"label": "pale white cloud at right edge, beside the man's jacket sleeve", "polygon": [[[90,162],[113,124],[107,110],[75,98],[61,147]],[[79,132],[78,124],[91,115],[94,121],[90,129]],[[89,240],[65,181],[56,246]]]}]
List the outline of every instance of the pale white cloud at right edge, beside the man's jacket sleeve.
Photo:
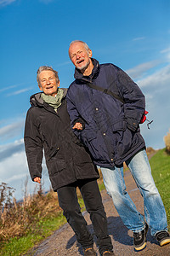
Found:
[{"label": "pale white cloud at right edge, beside the man's jacket sleeve", "polygon": [[[163,63],[162,61],[160,61],[160,63],[160,67],[158,66],[153,70],[150,69],[150,74],[147,73],[146,68],[144,78],[136,81],[144,92],[146,98],[146,110],[149,111],[147,119],[153,119],[153,123],[150,125],[150,130],[147,129],[145,122],[143,125],[140,125],[146,146],[152,148],[165,147],[163,137],[170,127],[170,65],[167,64],[165,66],[165,62]],[[162,65],[164,65],[164,67],[162,67]],[[151,68],[151,63],[149,62],[149,65],[147,64],[144,66]],[[134,67],[134,69],[135,68],[136,67]],[[143,65],[139,65],[139,70],[141,73],[144,71]]]}]

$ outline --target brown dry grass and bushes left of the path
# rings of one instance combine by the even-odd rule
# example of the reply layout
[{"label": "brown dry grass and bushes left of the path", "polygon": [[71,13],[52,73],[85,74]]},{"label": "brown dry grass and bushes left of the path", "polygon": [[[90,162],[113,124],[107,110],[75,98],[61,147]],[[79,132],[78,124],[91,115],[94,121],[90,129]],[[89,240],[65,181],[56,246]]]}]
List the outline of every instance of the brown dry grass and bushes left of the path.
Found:
[{"label": "brown dry grass and bushes left of the path", "polygon": [[6,183],[0,185],[0,242],[23,236],[34,230],[37,220],[55,217],[61,212],[54,191],[43,195],[40,186],[37,194],[26,196],[22,202],[16,202],[13,191]]}]

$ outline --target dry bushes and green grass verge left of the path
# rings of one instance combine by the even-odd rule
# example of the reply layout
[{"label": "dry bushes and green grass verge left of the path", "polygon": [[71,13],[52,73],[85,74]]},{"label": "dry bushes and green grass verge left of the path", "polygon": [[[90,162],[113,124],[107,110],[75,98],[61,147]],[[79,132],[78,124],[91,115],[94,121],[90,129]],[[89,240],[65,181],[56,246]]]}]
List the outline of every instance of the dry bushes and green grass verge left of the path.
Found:
[{"label": "dry bushes and green grass verge left of the path", "polygon": [[[25,186],[27,190],[27,181]],[[102,177],[99,178],[99,189],[104,189]],[[27,196],[25,192],[24,201],[16,202],[14,189],[6,183],[0,184],[0,255],[23,255],[66,223],[57,193],[52,189],[48,194],[42,192],[39,185],[34,195]],[[79,189],[77,195],[84,211]]]}]

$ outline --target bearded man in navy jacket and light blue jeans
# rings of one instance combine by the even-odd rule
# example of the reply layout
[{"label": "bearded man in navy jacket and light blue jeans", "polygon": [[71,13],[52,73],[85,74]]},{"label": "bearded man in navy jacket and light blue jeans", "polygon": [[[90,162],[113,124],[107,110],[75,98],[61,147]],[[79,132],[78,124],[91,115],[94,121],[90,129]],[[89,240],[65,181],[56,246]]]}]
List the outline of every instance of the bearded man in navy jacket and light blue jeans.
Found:
[{"label": "bearded man in navy jacket and light blue jeans", "polygon": [[[70,44],[75,81],[67,93],[72,128],[101,167],[105,188],[129,230],[134,249],[146,246],[148,225],[152,236],[163,246],[170,242],[167,216],[150,171],[139,123],[144,114],[144,95],[139,86],[119,67],[99,65],[92,50],[82,41]],[[123,162],[126,162],[141,195],[144,216],[126,191]]]}]

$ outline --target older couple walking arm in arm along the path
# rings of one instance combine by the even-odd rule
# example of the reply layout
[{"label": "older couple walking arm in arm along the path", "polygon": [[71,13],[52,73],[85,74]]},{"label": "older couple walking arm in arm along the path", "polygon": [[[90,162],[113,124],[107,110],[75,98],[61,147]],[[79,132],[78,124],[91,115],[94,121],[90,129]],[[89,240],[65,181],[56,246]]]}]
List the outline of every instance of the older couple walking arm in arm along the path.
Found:
[{"label": "older couple walking arm in arm along the path", "polygon": [[[96,166],[101,168],[116,211],[133,231],[134,249],[144,249],[149,227],[160,246],[166,245],[170,242],[167,216],[139,129],[145,110],[143,93],[122,69],[111,63],[99,64],[92,58],[88,44],[73,41],[69,56],[76,68],[75,80],[68,90],[59,88],[59,76],[52,67],[42,66],[37,71],[37,84],[42,92],[31,96],[25,126],[31,179],[41,183],[44,150],[59,206],[84,255],[96,255],[96,252],[77,201],[77,187],[94,225],[100,255],[115,255]],[[127,194],[123,162],[144,198],[144,216]]]}]

